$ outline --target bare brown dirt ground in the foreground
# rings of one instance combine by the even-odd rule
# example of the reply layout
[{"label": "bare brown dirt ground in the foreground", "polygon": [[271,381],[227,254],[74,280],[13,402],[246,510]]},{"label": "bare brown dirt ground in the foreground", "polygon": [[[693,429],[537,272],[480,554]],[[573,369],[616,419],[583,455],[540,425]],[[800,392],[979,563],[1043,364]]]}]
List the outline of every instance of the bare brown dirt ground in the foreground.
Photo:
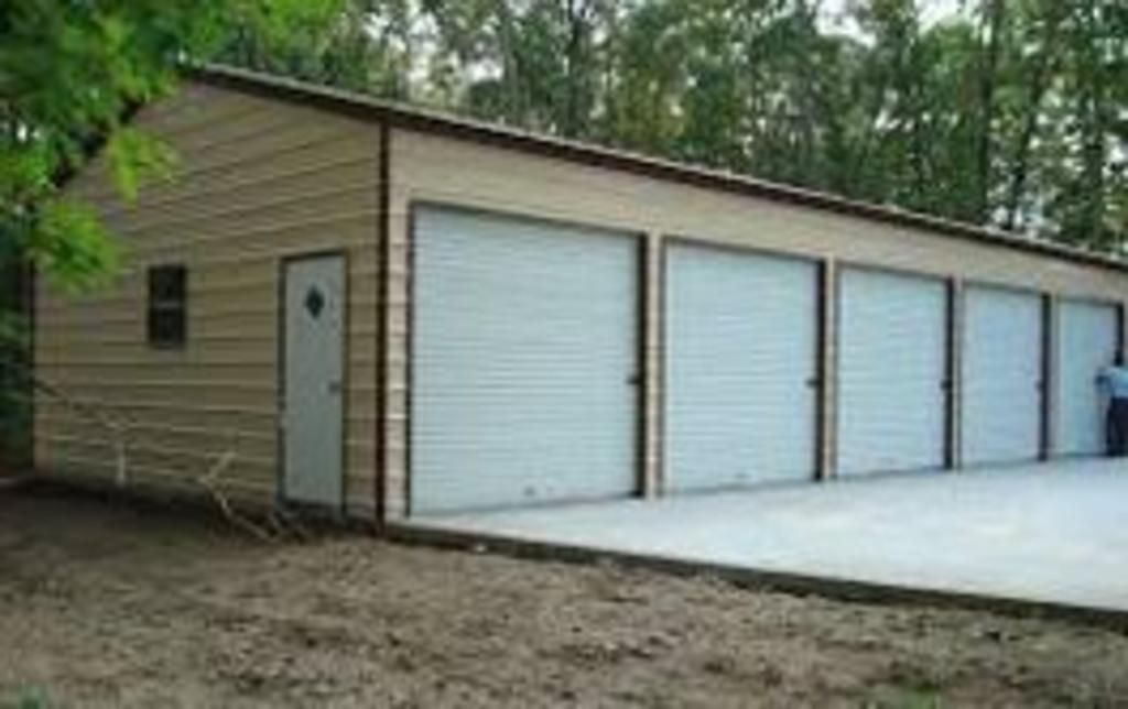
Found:
[{"label": "bare brown dirt ground in the foreground", "polygon": [[0,491],[0,707],[1128,707],[1128,637]]}]

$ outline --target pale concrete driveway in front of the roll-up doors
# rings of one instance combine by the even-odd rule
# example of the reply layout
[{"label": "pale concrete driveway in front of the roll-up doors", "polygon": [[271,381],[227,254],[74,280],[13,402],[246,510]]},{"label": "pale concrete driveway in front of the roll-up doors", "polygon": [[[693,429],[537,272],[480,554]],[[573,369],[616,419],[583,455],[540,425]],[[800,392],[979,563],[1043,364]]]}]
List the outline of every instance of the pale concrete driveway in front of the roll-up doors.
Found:
[{"label": "pale concrete driveway in front of the roll-up doors", "polygon": [[1128,462],[1117,460],[416,517],[411,526],[1128,612]]}]

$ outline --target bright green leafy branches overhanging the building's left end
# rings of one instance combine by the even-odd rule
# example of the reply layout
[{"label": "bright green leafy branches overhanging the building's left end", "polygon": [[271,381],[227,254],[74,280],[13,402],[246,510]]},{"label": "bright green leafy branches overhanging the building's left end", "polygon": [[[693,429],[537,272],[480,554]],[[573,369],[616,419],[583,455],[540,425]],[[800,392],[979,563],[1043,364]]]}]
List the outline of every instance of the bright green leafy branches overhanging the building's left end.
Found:
[{"label": "bright green leafy branches overhanging the building's left end", "polygon": [[[327,0],[35,0],[0,9],[0,238],[56,286],[81,289],[113,272],[111,236],[61,186],[98,151],[118,195],[167,176],[174,156],[129,125],[166,96],[187,62],[204,60],[226,28],[272,36]],[[312,9],[310,9],[312,8]]]}]

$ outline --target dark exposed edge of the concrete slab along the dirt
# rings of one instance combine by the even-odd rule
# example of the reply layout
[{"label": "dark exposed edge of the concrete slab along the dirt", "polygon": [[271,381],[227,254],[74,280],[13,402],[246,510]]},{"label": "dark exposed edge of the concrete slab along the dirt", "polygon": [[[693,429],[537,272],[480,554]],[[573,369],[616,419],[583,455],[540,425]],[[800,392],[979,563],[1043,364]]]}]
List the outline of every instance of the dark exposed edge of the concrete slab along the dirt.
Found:
[{"label": "dark exposed edge of the concrete slab along the dirt", "polygon": [[515,539],[486,532],[468,532],[411,523],[389,523],[386,537],[394,542],[460,551],[485,550],[521,559],[594,564],[611,561],[680,577],[714,576],[742,588],[794,595],[816,595],[852,603],[880,603],[987,611],[1012,618],[1063,620],[1128,633],[1128,611],[996,596],[959,591],[916,588],[879,582],[854,581],[776,570],[752,569],[728,564],[691,561],[666,556],[558,544]]}]

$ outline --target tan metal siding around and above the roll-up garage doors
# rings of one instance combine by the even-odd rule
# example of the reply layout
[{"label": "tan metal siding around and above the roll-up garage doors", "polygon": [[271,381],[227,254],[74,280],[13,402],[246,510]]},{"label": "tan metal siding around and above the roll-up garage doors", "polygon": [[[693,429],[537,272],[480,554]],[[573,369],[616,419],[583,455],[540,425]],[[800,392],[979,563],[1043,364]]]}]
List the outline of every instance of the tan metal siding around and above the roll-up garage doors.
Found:
[{"label": "tan metal siding around and above the roll-up garage doors", "polygon": [[[1123,302],[1128,276],[990,243],[835,214],[751,196],[710,190],[603,168],[565,162],[473,141],[393,130],[388,245],[388,347],[385,435],[388,514],[406,509],[408,207],[413,201],[529,214],[649,234],[684,236],[785,254],[959,276]],[[653,237],[652,237],[653,238]],[[650,278],[654,281],[653,277]],[[829,299],[829,296],[828,296]],[[834,316],[834,303],[826,303]],[[653,313],[654,303],[647,310]],[[653,322],[653,321],[652,321]],[[831,322],[832,326],[832,322]],[[653,331],[654,328],[652,327]],[[834,333],[828,333],[832,342]],[[654,335],[650,348],[658,347]],[[827,353],[832,361],[835,353]],[[659,352],[646,361],[660,360]],[[658,378],[651,378],[645,479],[659,480]],[[836,382],[828,378],[828,396]],[[834,446],[834,407],[825,436]]]}]

